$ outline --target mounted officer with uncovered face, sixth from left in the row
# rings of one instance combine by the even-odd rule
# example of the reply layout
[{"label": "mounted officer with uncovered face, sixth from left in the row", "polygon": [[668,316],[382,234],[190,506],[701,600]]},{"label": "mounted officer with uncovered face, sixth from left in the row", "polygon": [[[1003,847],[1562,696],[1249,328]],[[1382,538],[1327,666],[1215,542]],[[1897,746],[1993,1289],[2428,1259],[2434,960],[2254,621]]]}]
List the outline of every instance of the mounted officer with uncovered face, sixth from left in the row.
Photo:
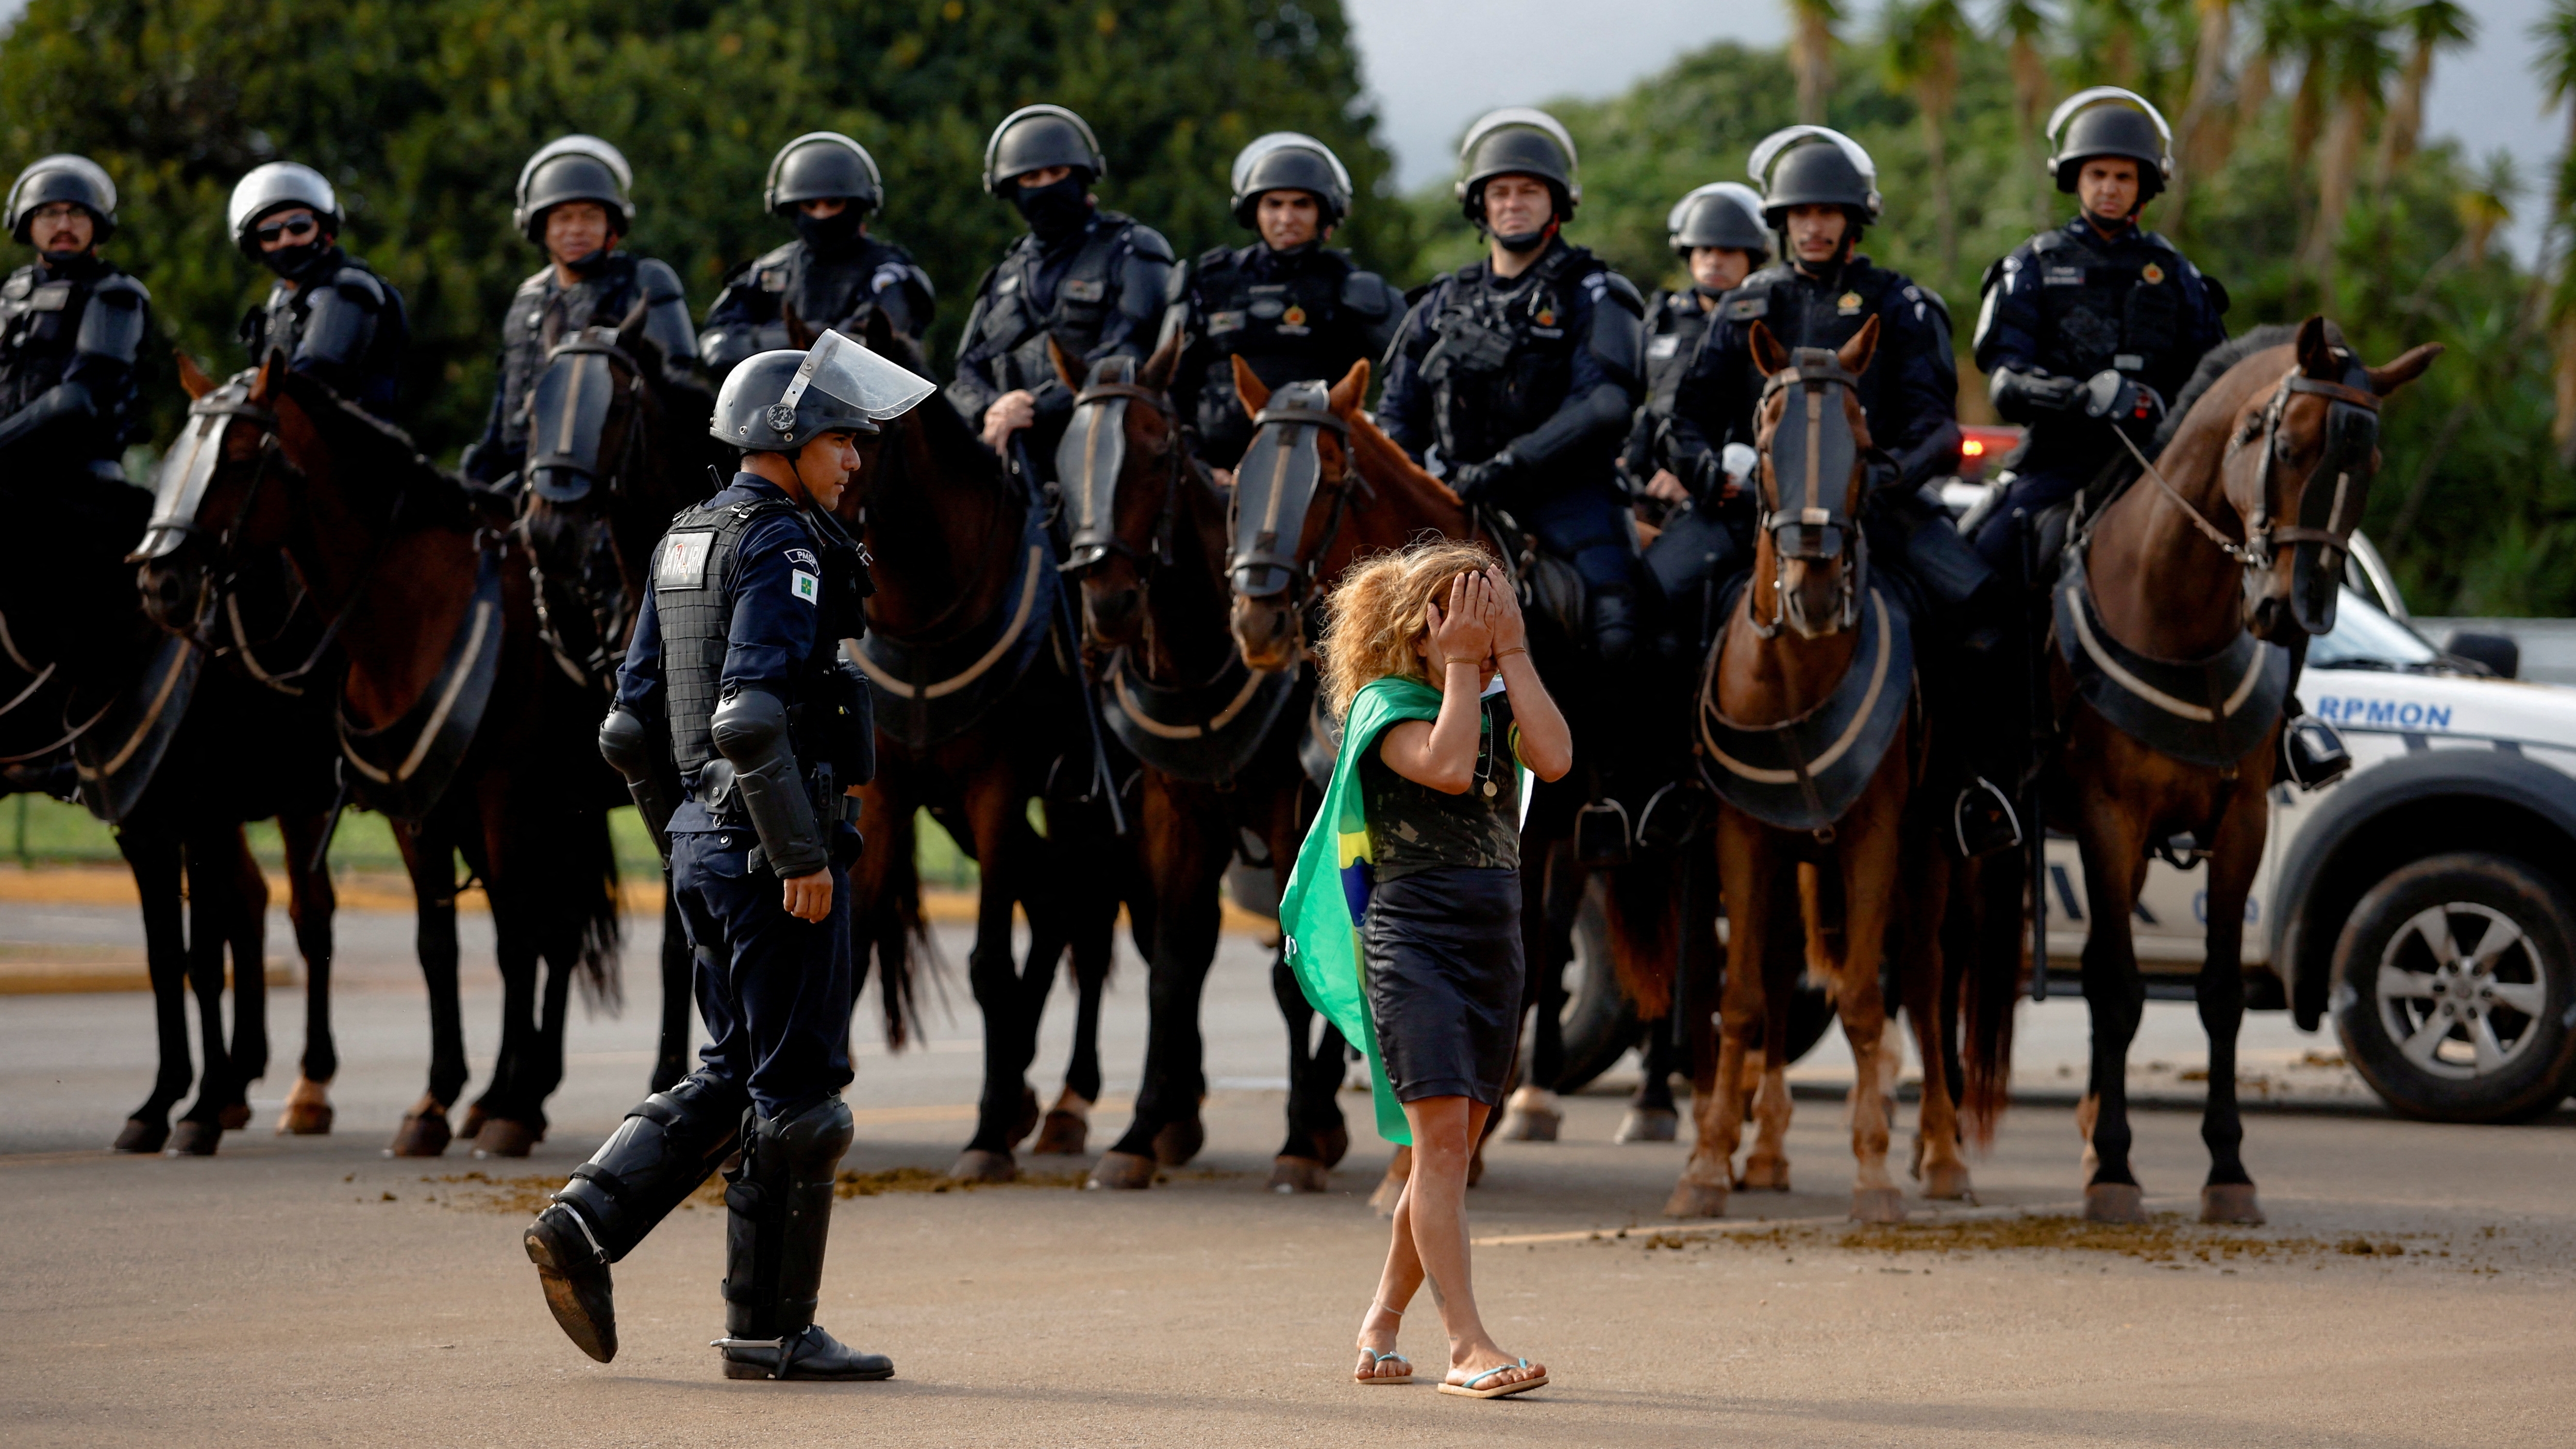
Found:
[{"label": "mounted officer with uncovered face, sixth from left in the row", "polygon": [[1273,389],[1316,376],[1340,382],[1350,364],[1383,356],[1404,322],[1404,299],[1386,278],[1324,245],[1345,217],[1350,173],[1324,142],[1270,131],[1234,157],[1234,219],[1260,240],[1175,268],[1162,322],[1164,335],[1180,330],[1190,340],[1172,405],[1208,467],[1231,469],[1252,443],[1234,358]]}]

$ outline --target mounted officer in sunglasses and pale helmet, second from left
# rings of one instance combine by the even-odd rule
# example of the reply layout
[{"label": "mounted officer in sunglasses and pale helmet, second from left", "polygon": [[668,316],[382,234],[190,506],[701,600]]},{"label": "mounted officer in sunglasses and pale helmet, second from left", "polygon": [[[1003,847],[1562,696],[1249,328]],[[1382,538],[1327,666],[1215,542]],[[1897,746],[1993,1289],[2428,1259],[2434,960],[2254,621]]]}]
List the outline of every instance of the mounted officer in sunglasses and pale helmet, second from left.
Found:
[{"label": "mounted officer in sunglasses and pale helmet, second from left", "polygon": [[394,415],[412,322],[402,291],[340,250],[340,196],[309,165],[273,160],[232,188],[232,245],[278,273],[268,299],[242,315],[252,366],[270,351],[286,366],[366,407]]}]

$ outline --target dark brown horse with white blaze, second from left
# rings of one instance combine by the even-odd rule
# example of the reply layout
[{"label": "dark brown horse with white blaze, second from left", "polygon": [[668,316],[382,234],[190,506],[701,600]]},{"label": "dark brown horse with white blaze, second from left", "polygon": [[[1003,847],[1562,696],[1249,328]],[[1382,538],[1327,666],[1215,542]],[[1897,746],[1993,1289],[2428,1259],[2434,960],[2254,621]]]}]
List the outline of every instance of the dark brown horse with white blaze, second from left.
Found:
[{"label": "dark brown horse with white blaze, second from left", "polygon": [[[507,521],[399,428],[276,351],[198,397],[191,418],[185,467],[165,472],[137,549],[144,598],[196,601],[157,614],[185,627],[224,611],[245,565],[283,549],[345,660],[332,691],[345,779],[399,825],[430,987],[430,1083],[392,1152],[440,1155],[451,1137],[474,1137],[477,1155],[526,1155],[562,1083],[572,980],[595,1000],[618,998],[598,701],[549,668]],[[505,1006],[492,1083],[451,1132],[466,1083],[459,853],[492,905]]]}]

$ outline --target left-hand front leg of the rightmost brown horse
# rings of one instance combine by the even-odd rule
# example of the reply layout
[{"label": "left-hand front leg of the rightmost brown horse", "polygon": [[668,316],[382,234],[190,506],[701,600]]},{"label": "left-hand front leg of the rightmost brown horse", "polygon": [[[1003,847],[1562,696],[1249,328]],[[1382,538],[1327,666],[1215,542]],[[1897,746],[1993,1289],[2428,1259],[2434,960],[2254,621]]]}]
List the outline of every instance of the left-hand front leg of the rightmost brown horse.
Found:
[{"label": "left-hand front leg of the rightmost brown horse", "polygon": [[2128,1044],[2146,1011],[2128,918],[2138,910],[2146,820],[2102,779],[2079,779],[2076,786],[2084,792],[2076,841],[2084,848],[2084,905],[2092,910],[2092,928],[2084,933],[2092,1075],[2076,1106],[2076,1129],[2084,1132],[2084,1217],[2146,1222],[2146,1201],[2128,1168]]}]

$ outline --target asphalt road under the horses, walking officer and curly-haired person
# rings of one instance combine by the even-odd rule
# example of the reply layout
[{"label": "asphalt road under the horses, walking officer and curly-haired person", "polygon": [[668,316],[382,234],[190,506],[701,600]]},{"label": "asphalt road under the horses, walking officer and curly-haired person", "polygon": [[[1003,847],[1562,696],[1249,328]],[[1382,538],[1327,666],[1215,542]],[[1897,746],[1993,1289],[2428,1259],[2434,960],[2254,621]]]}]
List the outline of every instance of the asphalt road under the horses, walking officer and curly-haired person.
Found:
[{"label": "asphalt road under the horses, walking officer and curly-haired person", "polygon": [[[644,964],[647,938],[631,959]],[[131,918],[5,908],[0,941],[93,941]],[[466,923],[477,1070],[497,1021]],[[283,936],[281,936],[283,938]],[[1497,1145],[1468,1204],[1479,1294],[1543,1359],[1528,1400],[1363,1390],[1347,1343],[1376,1279],[1386,1147],[1334,1191],[1262,1191],[1283,1073],[1265,954],[1226,938],[1208,990],[1208,1150],[1144,1194],[912,1191],[966,1134],[974,1008],[927,1049],[871,1047],[850,1101],[858,1173],[835,1217],[824,1323],[896,1359],[889,1385],[739,1385],[721,1325],[721,1209],[690,1207],[618,1266],[623,1354],[556,1333],[518,1250],[533,1201],[641,1093],[654,985],[569,1026],[554,1134],[526,1163],[381,1158],[425,1070],[410,920],[343,918],[332,1137],[273,1137],[301,1044],[276,990],[260,1122],[216,1158],[103,1152],[152,1073],[142,995],[0,1000],[0,1441],[5,1444],[2566,1444],[2576,1436],[2568,1248],[2576,1132],[2352,1111],[2331,1039],[2254,1018],[2246,1075],[2293,1109],[2249,1116],[2272,1225],[2081,1230],[2081,1006],[2025,1006],[2014,1109],[1976,1160],[1984,1207],[1855,1232],[1839,1109],[1801,1101],[1798,1191],[1731,1225],[1664,1225],[1682,1145],[1610,1145],[1615,1091],[1558,1142]],[[945,938],[951,962],[963,941]],[[1141,1060],[1144,977],[1113,985],[1113,1104]],[[1066,1052],[1056,1000],[1036,1080]],[[866,1008],[860,1013],[866,1021]],[[2192,1091],[2197,1021],[2151,1006],[2141,1088]],[[1834,1080],[1834,1044],[1806,1080]],[[2143,1070],[2159,1062],[2161,1073]],[[2161,1083],[2161,1085],[2159,1085]],[[471,1091],[471,1088],[469,1088]],[[1363,1098],[1345,1098],[1355,1116]],[[2342,1109],[2303,1109],[2308,1101]],[[1095,1142],[1121,1127],[1103,1111]],[[1911,1127],[1911,1109],[1901,1116]],[[1365,1132],[1363,1132],[1365,1137]],[[2205,1168],[2190,1111],[2143,1111],[2138,1171],[2184,1214]],[[477,1176],[479,1173],[479,1176]],[[1757,1222],[1759,1217],[1759,1222]],[[1623,1235],[1625,1232],[1625,1235]],[[1440,1359],[1430,1302],[1404,1348]],[[1427,1377],[1427,1374],[1425,1374]]]}]

